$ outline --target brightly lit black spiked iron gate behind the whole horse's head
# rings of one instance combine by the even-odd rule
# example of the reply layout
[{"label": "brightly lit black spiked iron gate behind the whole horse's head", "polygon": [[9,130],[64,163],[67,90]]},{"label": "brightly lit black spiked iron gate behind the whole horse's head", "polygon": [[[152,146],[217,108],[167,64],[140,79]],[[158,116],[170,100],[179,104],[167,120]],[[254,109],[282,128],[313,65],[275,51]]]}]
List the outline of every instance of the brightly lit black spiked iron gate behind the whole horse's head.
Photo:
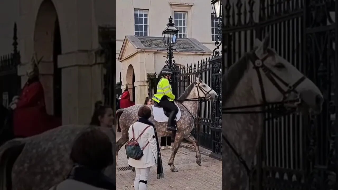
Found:
[{"label": "brightly lit black spiked iron gate behind the whole horse's head", "polygon": [[[192,64],[184,65],[174,69],[172,77],[173,92],[175,96],[180,96],[186,88],[201,76],[201,80],[215,90],[218,97],[222,97],[221,89],[221,71],[222,58],[206,58]],[[199,145],[212,150],[212,156],[221,158],[222,155],[222,130],[221,130],[221,114],[220,106],[221,98],[215,102],[207,101],[199,103],[199,112],[196,118],[195,127],[192,135],[198,140]]]}]

